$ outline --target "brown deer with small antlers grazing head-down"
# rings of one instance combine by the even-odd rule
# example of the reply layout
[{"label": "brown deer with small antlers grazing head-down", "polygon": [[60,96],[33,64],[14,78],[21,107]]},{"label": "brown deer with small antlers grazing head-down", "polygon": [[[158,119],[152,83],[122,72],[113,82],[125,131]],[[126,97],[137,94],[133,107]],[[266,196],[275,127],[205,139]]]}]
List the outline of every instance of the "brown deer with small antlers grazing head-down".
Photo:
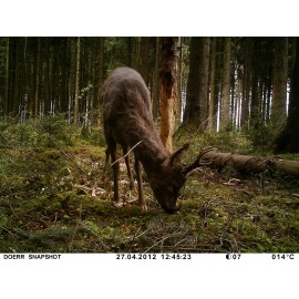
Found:
[{"label": "brown deer with small antlers grazing head-down", "polygon": [[188,148],[185,144],[173,154],[162,144],[155,132],[151,110],[150,92],[142,76],[130,68],[118,68],[106,79],[102,90],[104,134],[107,143],[106,165],[112,158],[114,176],[114,203],[122,205],[118,194],[118,161],[116,144],[121,144],[130,178],[134,181],[128,164],[127,150],[133,148],[138,186],[138,200],[143,212],[146,203],[143,194],[141,164],[147,175],[154,196],[166,213],[178,210],[178,192],[188,172],[197,167],[198,161],[188,167],[179,165],[179,159]]}]

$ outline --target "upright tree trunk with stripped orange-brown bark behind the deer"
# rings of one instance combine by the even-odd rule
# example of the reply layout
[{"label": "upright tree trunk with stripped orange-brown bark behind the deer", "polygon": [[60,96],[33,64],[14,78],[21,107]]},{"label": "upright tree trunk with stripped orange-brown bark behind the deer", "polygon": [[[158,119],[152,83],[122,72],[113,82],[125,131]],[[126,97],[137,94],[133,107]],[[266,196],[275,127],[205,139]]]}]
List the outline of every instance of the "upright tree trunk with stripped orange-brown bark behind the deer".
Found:
[{"label": "upright tree trunk with stripped orange-brown bark behind the deer", "polygon": [[173,134],[177,113],[178,56],[178,38],[162,38],[161,140],[169,152],[173,151]]}]

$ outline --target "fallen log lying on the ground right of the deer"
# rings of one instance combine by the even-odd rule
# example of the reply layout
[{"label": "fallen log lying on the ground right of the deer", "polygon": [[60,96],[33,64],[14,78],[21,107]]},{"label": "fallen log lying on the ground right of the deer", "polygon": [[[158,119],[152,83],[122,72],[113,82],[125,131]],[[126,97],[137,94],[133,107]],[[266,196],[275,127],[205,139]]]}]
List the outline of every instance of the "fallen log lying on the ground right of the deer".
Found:
[{"label": "fallen log lying on the ground right of the deer", "polygon": [[230,166],[240,173],[247,174],[258,174],[270,171],[271,173],[279,172],[299,176],[299,161],[218,153],[215,147],[202,150],[197,161],[199,165],[205,164],[219,171]]}]

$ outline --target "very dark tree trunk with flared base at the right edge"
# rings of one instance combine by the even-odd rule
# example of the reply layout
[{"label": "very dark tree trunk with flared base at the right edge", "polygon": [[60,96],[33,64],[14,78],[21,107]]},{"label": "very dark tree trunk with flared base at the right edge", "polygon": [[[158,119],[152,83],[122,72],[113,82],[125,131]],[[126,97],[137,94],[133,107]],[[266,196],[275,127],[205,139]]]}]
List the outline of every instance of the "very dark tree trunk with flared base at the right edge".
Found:
[{"label": "very dark tree trunk with flared base at the right edge", "polygon": [[276,153],[299,153],[299,38],[295,38],[296,53],[290,79],[289,113],[287,123],[275,141]]}]

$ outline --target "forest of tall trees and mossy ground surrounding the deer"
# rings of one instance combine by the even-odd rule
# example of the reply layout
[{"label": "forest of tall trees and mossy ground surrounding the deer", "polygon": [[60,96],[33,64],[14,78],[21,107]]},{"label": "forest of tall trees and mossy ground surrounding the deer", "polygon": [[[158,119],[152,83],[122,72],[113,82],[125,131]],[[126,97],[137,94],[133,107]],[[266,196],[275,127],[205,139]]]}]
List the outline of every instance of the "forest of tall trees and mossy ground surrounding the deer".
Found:
[{"label": "forest of tall trees and mossy ground surrounding the deer", "polygon": [[[124,65],[165,147],[202,157],[173,215],[145,174],[141,212],[122,161],[124,207],[103,179],[101,92]],[[0,38],[2,252],[298,252],[298,38]]]}]

